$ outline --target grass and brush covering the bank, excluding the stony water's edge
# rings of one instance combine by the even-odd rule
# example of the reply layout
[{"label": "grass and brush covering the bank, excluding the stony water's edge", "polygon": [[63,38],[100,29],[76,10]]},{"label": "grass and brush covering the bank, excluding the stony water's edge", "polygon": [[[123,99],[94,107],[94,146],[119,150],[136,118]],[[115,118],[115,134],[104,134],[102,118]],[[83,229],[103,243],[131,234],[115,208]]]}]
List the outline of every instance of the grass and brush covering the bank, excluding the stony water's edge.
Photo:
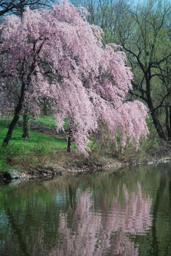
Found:
[{"label": "grass and brush covering the bank, excluding the stony water's edge", "polygon": [[[0,145],[2,145],[2,141],[7,134],[9,122],[7,124],[4,120],[0,121]],[[44,127],[55,128],[55,119],[53,117],[41,116],[34,122]],[[67,127],[68,121],[66,120],[66,130]],[[5,171],[9,168],[31,170],[47,166],[68,169],[92,165],[105,166],[105,164],[113,164],[117,161],[128,163],[145,162],[162,157],[164,154],[168,155],[169,147],[160,142],[150,120],[148,120],[148,127],[150,134],[147,140],[142,139],[140,141],[138,151],[129,144],[125,148],[124,154],[122,154],[121,149],[115,150],[110,140],[106,139],[106,141],[97,142],[92,138],[91,153],[86,158],[74,152],[74,145],[72,154],[66,152],[67,132],[48,135],[31,130],[30,138],[24,139],[22,138],[22,127],[16,126],[8,147],[3,148],[0,146],[0,171]]]}]

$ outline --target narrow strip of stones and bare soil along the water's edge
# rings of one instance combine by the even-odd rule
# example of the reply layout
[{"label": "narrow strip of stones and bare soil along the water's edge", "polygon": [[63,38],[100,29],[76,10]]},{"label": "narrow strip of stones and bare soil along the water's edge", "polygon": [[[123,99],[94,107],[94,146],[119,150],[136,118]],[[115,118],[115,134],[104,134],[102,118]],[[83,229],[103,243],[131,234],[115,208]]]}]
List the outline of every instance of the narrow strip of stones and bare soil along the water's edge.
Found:
[{"label": "narrow strip of stones and bare soil along the water's edge", "polygon": [[[0,181],[3,180],[38,180],[44,178],[55,178],[58,176],[66,176],[66,175],[90,175],[92,173],[108,171],[113,169],[113,171],[117,171],[119,169],[124,169],[128,166],[139,166],[143,164],[147,165],[156,165],[159,163],[171,162],[171,157],[163,157],[161,159],[155,159],[153,162],[144,161],[144,162],[128,162],[128,161],[120,161],[118,159],[113,159],[113,161],[106,162],[105,164],[91,164],[84,165],[81,167],[75,166],[72,168],[67,167],[52,167],[52,166],[40,166],[33,168],[32,170],[24,170],[19,171],[17,169],[9,169],[6,172],[0,172]],[[11,175],[11,176],[10,176]],[[13,175],[13,177],[12,177]]]}]

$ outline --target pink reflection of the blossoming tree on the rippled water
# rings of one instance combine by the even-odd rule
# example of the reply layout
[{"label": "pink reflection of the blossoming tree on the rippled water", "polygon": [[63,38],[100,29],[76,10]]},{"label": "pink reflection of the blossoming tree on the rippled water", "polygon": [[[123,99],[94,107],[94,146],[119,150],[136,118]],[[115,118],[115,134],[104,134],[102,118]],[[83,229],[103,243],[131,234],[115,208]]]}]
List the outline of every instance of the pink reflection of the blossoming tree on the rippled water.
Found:
[{"label": "pink reflection of the blossoming tree on the rippled water", "polygon": [[[94,201],[88,189],[79,196],[74,212],[72,228],[67,227],[67,214],[60,214],[59,234],[61,240],[49,255],[138,255],[138,249],[126,233],[143,235],[151,226],[149,196],[142,198],[140,184],[130,195],[123,187],[123,204],[113,198],[110,210],[92,210]],[[69,239],[68,239],[69,238]]]}]

